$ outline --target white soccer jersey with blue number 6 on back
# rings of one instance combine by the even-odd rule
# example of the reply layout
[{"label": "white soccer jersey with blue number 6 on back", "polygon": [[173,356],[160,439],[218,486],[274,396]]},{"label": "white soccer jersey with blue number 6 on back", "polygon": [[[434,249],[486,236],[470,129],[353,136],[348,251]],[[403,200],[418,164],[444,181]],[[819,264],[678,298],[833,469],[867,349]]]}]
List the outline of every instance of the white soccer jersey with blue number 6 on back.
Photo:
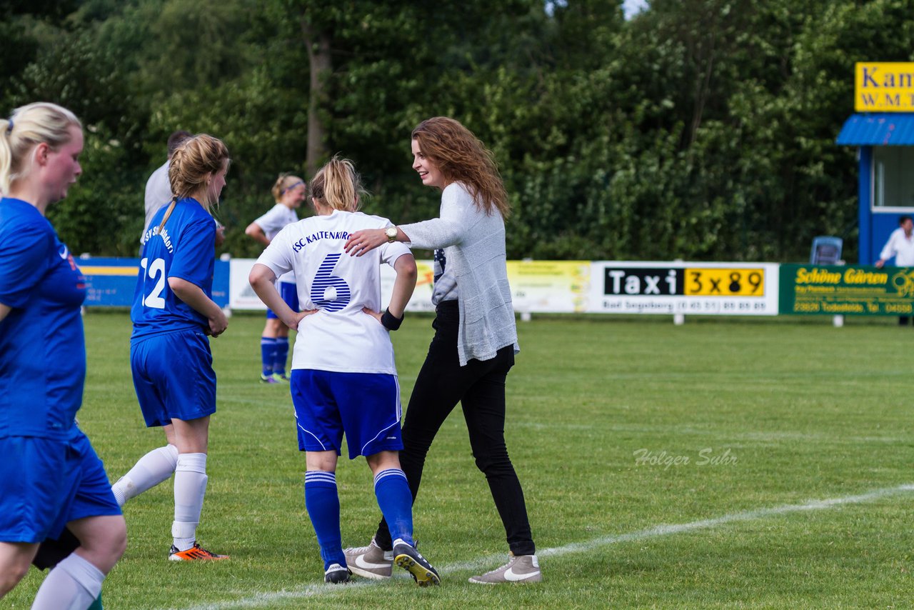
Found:
[{"label": "white soccer jersey with blue number 6 on back", "polygon": [[335,210],[287,226],[257,260],[277,276],[297,279],[302,309],[318,309],[298,326],[292,369],[397,374],[388,330],[362,311],[381,310],[382,262],[393,266],[409,248],[395,241],[350,256],[343,246],[356,230],[392,226],[388,219]]}]

